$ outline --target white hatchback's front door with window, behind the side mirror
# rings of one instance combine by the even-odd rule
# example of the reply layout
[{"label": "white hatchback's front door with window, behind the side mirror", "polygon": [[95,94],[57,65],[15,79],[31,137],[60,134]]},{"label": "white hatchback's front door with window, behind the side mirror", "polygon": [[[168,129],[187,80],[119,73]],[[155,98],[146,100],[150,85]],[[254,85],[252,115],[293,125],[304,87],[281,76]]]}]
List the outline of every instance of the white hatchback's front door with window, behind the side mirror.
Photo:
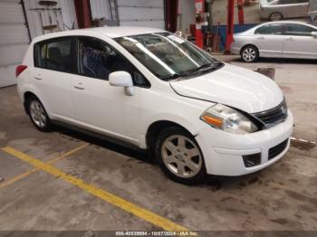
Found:
[{"label": "white hatchback's front door with window, behind the side mirror", "polygon": [[91,37],[77,41],[78,75],[72,78],[75,118],[83,127],[139,143],[139,93],[128,96],[109,84],[113,71],[132,72],[131,63],[109,44]]}]

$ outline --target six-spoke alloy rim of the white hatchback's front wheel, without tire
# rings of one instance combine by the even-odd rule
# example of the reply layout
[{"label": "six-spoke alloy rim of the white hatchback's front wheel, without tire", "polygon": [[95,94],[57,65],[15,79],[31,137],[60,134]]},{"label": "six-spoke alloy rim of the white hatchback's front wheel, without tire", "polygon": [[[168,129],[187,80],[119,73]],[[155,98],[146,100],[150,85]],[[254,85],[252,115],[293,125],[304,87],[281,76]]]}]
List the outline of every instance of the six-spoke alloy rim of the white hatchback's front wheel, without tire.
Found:
[{"label": "six-spoke alloy rim of the white hatchback's front wheel, without tire", "polygon": [[193,177],[202,168],[199,148],[185,136],[168,137],[162,144],[161,155],[168,170],[182,178]]}]

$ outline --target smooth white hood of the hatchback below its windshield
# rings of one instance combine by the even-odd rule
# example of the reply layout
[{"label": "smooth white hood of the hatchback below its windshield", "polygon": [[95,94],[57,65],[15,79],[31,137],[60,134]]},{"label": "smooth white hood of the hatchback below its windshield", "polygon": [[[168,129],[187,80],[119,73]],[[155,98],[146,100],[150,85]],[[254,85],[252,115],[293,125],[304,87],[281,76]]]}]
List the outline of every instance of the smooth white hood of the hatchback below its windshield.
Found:
[{"label": "smooth white hood of the hatchback below its windshield", "polygon": [[273,109],[283,93],[264,75],[226,64],[217,71],[181,81],[170,81],[179,95],[221,103],[248,113]]}]

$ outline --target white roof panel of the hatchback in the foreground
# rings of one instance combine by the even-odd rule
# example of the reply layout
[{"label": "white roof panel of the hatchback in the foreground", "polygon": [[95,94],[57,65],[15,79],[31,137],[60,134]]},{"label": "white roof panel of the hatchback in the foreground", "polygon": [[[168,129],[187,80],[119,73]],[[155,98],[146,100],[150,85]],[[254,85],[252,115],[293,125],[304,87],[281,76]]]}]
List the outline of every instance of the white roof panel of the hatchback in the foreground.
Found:
[{"label": "white roof panel of the hatchback in the foreground", "polygon": [[95,28],[86,28],[80,30],[71,30],[58,33],[47,33],[34,38],[35,42],[40,42],[43,40],[49,40],[51,38],[62,37],[62,36],[72,36],[72,35],[87,35],[90,36],[94,33],[103,34],[104,36],[110,38],[118,38],[130,35],[145,34],[145,33],[162,33],[166,32],[158,28],[148,28],[148,27],[135,27],[135,26],[101,26]]}]

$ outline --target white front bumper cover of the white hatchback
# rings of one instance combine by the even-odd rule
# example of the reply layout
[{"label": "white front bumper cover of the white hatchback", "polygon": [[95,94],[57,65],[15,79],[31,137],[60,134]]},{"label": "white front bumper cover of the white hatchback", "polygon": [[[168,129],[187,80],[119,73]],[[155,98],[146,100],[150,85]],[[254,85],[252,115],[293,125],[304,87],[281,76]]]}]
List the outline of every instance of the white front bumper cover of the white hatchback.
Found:
[{"label": "white front bumper cover of the white hatchback", "polygon": [[[207,126],[196,139],[205,157],[207,174],[237,176],[256,172],[279,160],[290,147],[288,138],[292,133],[293,114],[289,110],[287,119],[272,128],[237,135]],[[269,149],[286,139],[288,142],[283,151],[269,159]],[[243,156],[256,153],[261,153],[261,163],[257,166],[245,167]]]}]

